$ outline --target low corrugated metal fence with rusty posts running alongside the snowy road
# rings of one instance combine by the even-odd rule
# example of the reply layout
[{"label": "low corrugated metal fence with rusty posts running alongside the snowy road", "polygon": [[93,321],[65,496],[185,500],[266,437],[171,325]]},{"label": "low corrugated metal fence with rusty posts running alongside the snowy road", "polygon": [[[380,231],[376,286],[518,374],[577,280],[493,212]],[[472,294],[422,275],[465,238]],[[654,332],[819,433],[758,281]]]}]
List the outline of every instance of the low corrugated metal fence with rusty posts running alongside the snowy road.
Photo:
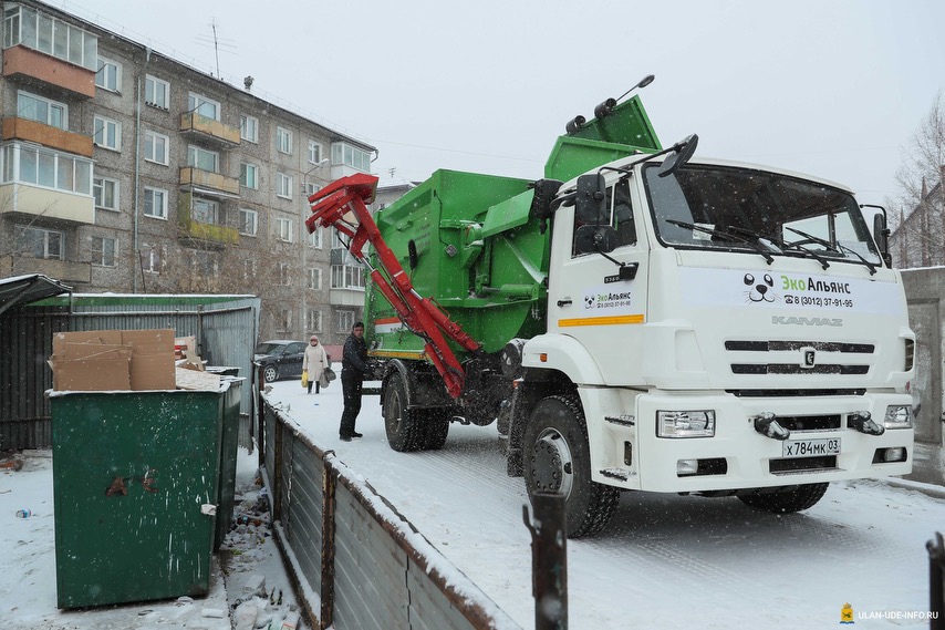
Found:
[{"label": "low corrugated metal fence with rusty posts running alongside the snowy road", "polygon": [[332,451],[260,409],[277,541],[316,627],[520,630]]}]

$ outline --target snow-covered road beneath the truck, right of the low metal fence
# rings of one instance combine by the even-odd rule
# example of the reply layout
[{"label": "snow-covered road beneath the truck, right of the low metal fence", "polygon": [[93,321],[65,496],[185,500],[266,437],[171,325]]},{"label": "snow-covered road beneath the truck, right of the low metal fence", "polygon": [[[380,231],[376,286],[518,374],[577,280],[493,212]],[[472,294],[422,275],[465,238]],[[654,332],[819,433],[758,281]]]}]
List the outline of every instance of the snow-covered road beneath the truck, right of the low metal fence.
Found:
[{"label": "snow-covered road beneath the truck, right of the low metal fence", "polygon": [[[528,499],[506,476],[495,425],[454,424],[443,451],[404,454],[387,445],[377,396],[365,396],[364,437],[351,443],[338,438],[336,384],[316,396],[279,382],[270,400],[533,627]],[[834,484],[789,516],[736,498],[626,493],[601,535],[568,543],[569,627],[837,628],[845,603],[856,628],[927,627],[925,543],[945,529],[945,493],[901,484]]]}]

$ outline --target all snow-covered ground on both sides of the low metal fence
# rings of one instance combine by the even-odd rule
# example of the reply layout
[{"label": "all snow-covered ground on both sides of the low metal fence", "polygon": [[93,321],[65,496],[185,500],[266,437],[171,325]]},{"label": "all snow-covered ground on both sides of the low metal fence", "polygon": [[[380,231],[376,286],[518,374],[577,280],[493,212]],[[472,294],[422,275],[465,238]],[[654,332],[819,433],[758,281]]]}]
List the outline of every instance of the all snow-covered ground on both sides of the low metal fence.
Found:
[{"label": "all snow-covered ground on both sides of the low metal fence", "polygon": [[[521,479],[508,478],[495,426],[454,425],[439,452],[401,454],[384,435],[376,396],[365,396],[362,440],[338,438],[339,383],[307,395],[295,381],[269,399],[315,443],[363,475],[456,567],[523,628],[533,626],[530,536]],[[241,452],[239,494],[250,505],[256,454]],[[925,628],[925,543],[945,530],[938,486],[879,481],[834,484],[813,508],[776,516],[737,499],[627,493],[596,538],[568,543],[570,628],[837,628],[850,603],[854,628]],[[32,509],[17,518],[21,507]],[[229,576],[207,599],[143,602],[87,611],[55,609],[52,472],[49,452],[28,453],[19,472],[0,473],[0,620],[7,628],[100,630],[205,628],[202,617],[243,596],[256,572],[293,602],[264,526],[231,536]],[[260,603],[262,600],[253,600]]]}]

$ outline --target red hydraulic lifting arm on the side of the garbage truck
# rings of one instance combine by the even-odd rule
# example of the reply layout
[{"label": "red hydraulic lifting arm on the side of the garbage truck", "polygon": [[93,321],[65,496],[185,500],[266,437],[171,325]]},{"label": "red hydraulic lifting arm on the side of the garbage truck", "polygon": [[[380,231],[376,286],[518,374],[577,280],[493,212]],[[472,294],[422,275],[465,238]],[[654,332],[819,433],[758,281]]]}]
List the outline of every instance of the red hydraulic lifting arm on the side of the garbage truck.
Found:
[{"label": "red hydraulic lifting arm on the side of the garbage truck", "polygon": [[[444,333],[469,351],[479,350],[481,344],[466,334],[429,298],[420,297],[414,289],[367,209],[376,188],[377,177],[364,173],[332,182],[309,197],[312,216],[305,219],[305,227],[310,233],[316,227],[333,227],[349,238],[347,250],[370,270],[371,279],[397,311],[404,326],[426,341],[424,351],[427,358],[443,376],[449,395],[458,399],[463,394],[466,374]],[[380,269],[367,262],[362,251],[365,242],[370,242],[377,252]]]}]

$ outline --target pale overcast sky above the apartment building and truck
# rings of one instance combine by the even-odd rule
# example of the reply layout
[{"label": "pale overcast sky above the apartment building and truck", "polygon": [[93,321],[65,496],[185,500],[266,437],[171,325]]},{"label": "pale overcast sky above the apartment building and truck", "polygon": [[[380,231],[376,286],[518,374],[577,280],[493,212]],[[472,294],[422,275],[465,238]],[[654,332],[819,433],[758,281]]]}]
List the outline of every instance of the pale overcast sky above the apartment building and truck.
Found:
[{"label": "pale overcast sky above the apartment building and truck", "polygon": [[895,192],[945,89],[942,0],[50,0],[380,149],[374,173],[537,178],[638,79],[664,145]]}]

